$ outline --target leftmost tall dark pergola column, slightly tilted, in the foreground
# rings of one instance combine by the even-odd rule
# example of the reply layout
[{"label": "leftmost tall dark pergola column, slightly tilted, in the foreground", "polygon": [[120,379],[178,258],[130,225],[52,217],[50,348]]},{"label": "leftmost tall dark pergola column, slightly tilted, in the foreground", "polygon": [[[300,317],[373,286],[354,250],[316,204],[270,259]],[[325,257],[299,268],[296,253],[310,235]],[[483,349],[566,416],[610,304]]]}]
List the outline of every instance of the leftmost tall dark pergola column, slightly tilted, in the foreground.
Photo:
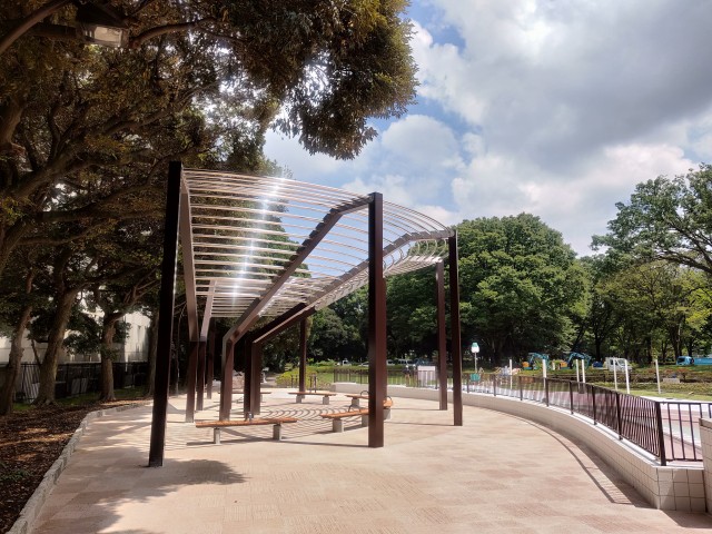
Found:
[{"label": "leftmost tall dark pergola column, slightly tilted, in the foreground", "polygon": [[158,320],[158,347],[154,383],[154,412],[148,466],[164,465],[166,448],[166,418],[168,411],[168,386],[170,380],[170,342],[174,329],[174,305],[176,288],[176,261],[178,260],[178,214],[180,212],[180,175],[182,165],[171,161],[168,167],[166,191],[166,224],[164,229],[164,263],[160,277],[160,304]]}]

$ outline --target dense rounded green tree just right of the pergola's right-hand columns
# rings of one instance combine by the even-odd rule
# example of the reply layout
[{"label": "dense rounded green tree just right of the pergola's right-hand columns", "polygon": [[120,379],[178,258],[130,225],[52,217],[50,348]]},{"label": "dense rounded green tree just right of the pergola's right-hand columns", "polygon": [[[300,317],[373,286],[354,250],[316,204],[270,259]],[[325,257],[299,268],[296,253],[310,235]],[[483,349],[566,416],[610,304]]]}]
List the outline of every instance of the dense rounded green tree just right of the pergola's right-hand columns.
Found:
[{"label": "dense rounded green tree just right of the pergola's right-hand columns", "polygon": [[457,227],[463,337],[483,356],[562,349],[585,314],[586,278],[575,254],[537,217],[492,217]]}]

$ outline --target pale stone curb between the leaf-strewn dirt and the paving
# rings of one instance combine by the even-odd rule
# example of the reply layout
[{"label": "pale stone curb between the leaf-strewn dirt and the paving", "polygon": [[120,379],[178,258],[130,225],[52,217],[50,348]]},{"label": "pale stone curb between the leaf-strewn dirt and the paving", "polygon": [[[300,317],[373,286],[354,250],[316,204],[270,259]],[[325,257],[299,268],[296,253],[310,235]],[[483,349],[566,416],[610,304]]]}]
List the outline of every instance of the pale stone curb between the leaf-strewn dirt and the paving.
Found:
[{"label": "pale stone curb between the leaf-strewn dirt and the paving", "polygon": [[49,471],[44,473],[42,482],[40,482],[39,486],[37,486],[37,490],[34,490],[32,496],[28,500],[27,503],[24,503],[22,512],[20,512],[20,516],[10,527],[8,534],[28,534],[30,532],[32,523],[40,515],[47,497],[50,495],[50,493],[52,493],[52,490],[55,490],[55,485],[59,479],[59,475],[62,474],[62,472],[67,467],[67,464],[69,464],[69,458],[75,452],[75,448],[77,448],[79,439],[85,434],[85,431],[87,429],[90,421],[103,417],[105,415],[111,415],[118,412],[123,412],[126,409],[138,408],[142,406],[145,406],[145,404],[127,404],[125,406],[117,406],[115,408],[89,412],[85,416],[85,418],[81,419],[81,423],[79,423],[79,427],[75,431],[69,442],[67,442],[67,445],[65,445],[65,448],[62,449],[59,457],[55,461]]}]

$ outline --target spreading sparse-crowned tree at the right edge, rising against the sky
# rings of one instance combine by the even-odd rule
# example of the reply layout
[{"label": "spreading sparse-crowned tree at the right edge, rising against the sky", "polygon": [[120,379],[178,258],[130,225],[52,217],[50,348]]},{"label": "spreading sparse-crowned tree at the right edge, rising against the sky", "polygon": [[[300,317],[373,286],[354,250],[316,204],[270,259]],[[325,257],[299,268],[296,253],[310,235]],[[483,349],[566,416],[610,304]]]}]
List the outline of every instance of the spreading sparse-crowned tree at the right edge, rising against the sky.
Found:
[{"label": "spreading sparse-crowned tree at the right edge, rising against the sky", "polygon": [[594,236],[594,246],[712,275],[712,166],[639,184],[630,202],[616,207],[609,233]]}]

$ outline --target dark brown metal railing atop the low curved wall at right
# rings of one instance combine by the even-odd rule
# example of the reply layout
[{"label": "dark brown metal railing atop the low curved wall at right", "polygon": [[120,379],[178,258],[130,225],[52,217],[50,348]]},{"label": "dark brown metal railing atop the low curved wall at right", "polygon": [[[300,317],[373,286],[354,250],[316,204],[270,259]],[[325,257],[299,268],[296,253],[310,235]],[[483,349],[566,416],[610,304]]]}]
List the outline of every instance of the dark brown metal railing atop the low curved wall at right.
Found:
[{"label": "dark brown metal railing atop the low curved wall at right", "polygon": [[702,462],[700,417],[712,417],[712,403],[653,399],[606,387],[538,376],[468,374],[463,389],[542,403],[571,411],[617,433],[660,459]]}]

